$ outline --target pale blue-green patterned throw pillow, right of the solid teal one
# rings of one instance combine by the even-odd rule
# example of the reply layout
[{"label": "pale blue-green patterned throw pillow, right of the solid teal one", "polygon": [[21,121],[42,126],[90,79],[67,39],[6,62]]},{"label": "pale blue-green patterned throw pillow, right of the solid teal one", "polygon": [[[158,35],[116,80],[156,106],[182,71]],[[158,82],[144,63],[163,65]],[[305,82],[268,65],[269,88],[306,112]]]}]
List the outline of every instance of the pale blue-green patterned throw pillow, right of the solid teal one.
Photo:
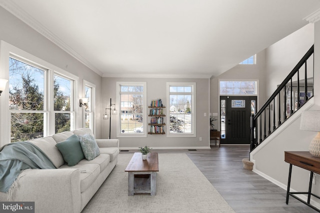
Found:
[{"label": "pale blue-green patterned throw pillow, right of the solid teal one", "polygon": [[91,161],[96,156],[100,155],[98,145],[96,144],[94,138],[90,134],[78,135],[80,140],[80,145],[82,152],[86,160]]}]

